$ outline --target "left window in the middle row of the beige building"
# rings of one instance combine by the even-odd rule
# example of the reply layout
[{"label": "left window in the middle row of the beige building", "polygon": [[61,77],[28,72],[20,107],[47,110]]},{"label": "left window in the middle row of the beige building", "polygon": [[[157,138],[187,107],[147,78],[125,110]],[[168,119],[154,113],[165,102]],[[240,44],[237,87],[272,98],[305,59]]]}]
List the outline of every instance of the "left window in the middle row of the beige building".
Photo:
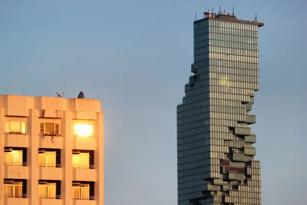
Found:
[{"label": "left window in the middle row of the beige building", "polygon": [[26,149],[4,148],[4,165],[27,166]]}]

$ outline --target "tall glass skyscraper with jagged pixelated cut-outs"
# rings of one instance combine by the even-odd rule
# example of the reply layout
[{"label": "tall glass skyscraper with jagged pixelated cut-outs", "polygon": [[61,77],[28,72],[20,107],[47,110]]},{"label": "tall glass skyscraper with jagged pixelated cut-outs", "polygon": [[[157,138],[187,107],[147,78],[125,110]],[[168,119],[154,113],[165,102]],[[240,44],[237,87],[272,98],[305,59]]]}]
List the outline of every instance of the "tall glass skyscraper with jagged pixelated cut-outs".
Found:
[{"label": "tall glass skyscraper with jagged pixelated cut-outs", "polygon": [[177,106],[178,204],[261,204],[249,125],[259,90],[258,27],[233,13],[194,22],[193,75]]}]

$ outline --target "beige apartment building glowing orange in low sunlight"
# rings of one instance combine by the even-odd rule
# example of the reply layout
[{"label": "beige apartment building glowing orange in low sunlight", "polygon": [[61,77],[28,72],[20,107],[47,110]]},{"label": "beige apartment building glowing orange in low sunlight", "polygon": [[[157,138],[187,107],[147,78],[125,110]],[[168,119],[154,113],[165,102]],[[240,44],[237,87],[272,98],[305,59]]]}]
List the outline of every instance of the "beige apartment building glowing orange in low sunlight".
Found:
[{"label": "beige apartment building glowing orange in low sunlight", "polygon": [[100,100],[0,95],[0,205],[103,205]]}]

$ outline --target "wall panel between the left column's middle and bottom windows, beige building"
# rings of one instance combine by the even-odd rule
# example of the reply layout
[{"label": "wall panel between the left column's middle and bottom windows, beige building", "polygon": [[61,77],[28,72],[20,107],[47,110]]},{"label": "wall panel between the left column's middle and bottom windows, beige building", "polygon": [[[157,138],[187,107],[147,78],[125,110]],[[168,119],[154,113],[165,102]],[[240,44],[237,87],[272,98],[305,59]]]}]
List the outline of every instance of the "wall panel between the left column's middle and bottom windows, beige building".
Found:
[{"label": "wall panel between the left column's middle and bottom windows, beige building", "polygon": [[[8,166],[10,162],[5,162],[4,178],[8,179],[27,179],[28,167],[25,166]],[[26,165],[27,163],[25,163]]]}]

